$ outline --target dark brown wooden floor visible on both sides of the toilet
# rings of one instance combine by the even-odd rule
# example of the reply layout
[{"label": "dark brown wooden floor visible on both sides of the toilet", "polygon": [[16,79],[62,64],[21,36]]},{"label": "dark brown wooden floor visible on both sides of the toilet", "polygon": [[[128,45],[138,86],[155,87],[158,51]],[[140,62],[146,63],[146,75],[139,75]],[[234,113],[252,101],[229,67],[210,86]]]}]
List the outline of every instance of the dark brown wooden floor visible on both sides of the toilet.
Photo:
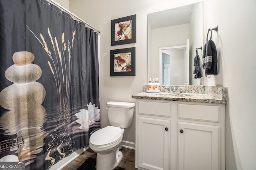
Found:
[{"label": "dark brown wooden floor visible on both sides of the toilet", "polygon": [[[137,168],[135,168],[135,150],[122,147],[121,152],[123,153],[123,158],[118,166],[125,168],[126,170],[137,170]],[[76,170],[76,168],[84,163],[89,157],[96,158],[96,153],[91,149],[88,149],[79,155],[76,159],[62,168],[62,170]]]}]

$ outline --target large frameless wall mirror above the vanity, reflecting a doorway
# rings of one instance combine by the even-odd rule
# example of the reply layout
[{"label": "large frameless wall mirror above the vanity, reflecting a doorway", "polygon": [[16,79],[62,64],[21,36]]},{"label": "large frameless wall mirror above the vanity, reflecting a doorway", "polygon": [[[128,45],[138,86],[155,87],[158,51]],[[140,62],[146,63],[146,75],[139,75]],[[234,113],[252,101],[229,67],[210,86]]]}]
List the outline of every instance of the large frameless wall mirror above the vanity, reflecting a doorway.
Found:
[{"label": "large frameless wall mirror above the vanity, reflecting a doorway", "polygon": [[[203,45],[203,2],[148,14],[148,78],[162,85],[202,85],[193,74]],[[202,65],[202,51],[198,51]]]}]

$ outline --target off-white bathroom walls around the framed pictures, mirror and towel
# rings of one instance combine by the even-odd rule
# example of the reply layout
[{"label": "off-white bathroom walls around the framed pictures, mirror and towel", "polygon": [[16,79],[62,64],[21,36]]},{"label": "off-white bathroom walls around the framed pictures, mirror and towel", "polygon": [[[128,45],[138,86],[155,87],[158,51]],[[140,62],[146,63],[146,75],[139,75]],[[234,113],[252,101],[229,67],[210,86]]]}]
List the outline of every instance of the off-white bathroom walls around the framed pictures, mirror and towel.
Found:
[{"label": "off-white bathroom walls around the framed pictures, mirror and towel", "polygon": [[[106,102],[135,102],[132,94],[147,84],[147,14],[200,0],[70,0],[70,10],[100,29],[100,108],[102,127],[108,125]],[[204,43],[207,30],[213,32],[218,49],[218,76],[204,85],[228,87],[226,105],[226,170],[256,169],[256,1],[203,0]],[[137,15],[137,42],[110,46],[111,20]],[[110,77],[110,50],[136,47],[136,76]],[[135,121],[126,129],[124,140],[135,142]]]}]

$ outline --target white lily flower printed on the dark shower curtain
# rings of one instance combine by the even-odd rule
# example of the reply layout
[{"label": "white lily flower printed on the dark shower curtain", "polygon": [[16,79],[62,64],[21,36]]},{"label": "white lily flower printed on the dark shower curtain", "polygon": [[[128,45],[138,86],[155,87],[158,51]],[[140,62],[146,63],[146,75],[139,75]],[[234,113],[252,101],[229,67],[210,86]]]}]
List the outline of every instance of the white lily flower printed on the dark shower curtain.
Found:
[{"label": "white lily flower printed on the dark shower curtain", "polygon": [[80,109],[80,112],[75,114],[78,118],[76,122],[81,125],[78,127],[79,129],[88,130],[90,125],[100,120],[100,109],[98,109],[98,106],[95,107],[95,104],[92,105],[92,102],[90,102],[87,108],[88,110]]}]

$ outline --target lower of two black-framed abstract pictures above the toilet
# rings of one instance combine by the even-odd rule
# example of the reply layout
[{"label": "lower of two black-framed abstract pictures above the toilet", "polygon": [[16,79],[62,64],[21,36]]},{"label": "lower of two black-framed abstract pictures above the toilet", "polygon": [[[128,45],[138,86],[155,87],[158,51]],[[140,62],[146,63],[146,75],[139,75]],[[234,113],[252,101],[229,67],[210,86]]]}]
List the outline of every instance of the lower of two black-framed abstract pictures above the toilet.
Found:
[{"label": "lower of two black-framed abstract pictures above the toilet", "polygon": [[135,47],[110,50],[110,76],[135,76]]}]

